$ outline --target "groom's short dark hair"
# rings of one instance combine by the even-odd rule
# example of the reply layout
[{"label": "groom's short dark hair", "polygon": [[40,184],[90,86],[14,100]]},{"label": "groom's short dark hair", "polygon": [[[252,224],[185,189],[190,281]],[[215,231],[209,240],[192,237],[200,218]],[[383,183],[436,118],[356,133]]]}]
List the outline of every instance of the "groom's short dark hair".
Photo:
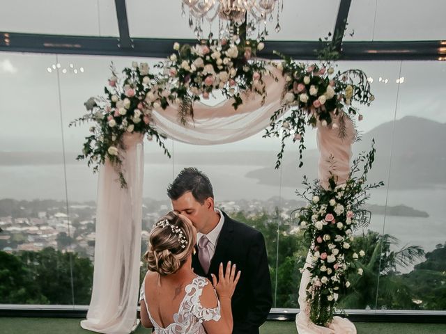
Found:
[{"label": "groom's short dark hair", "polygon": [[171,200],[178,200],[187,191],[190,191],[195,200],[201,204],[206,198],[214,198],[209,177],[194,167],[184,168],[180,171],[174,182],[167,187],[167,196]]}]

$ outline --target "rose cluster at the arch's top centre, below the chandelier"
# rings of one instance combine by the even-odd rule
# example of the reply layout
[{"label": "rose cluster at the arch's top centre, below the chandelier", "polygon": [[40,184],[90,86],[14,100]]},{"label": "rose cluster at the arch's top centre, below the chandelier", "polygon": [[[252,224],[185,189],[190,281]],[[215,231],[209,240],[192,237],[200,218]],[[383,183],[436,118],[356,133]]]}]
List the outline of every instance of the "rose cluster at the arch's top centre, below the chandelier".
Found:
[{"label": "rose cluster at the arch's top centre, below the chandelier", "polygon": [[232,98],[234,109],[242,104],[240,93],[247,90],[263,95],[264,102],[265,61],[256,60],[263,42],[246,40],[236,44],[234,38],[202,40],[194,46],[175,42],[174,53],[156,65],[163,69],[171,100],[180,100],[183,122],[187,115],[193,116],[192,103],[208,99],[213,90],[221,90],[225,97]]}]

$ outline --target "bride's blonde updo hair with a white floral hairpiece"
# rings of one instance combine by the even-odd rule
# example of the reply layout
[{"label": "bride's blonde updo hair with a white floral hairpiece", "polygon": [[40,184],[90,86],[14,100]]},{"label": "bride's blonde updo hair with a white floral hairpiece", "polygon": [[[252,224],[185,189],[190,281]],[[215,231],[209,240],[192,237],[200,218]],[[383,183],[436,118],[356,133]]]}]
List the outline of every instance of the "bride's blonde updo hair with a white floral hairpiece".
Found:
[{"label": "bride's blonde updo hair with a white floral hairpiece", "polygon": [[192,253],[196,240],[190,223],[176,212],[169,212],[153,225],[144,254],[147,269],[162,276],[176,273]]}]

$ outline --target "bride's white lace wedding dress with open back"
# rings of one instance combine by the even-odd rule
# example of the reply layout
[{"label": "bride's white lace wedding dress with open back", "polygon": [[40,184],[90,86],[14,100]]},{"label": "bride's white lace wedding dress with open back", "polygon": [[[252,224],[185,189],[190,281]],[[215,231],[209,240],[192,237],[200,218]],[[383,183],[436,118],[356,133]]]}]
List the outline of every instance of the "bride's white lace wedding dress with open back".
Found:
[{"label": "bride's white lace wedding dress with open back", "polygon": [[162,328],[153,320],[151,313],[148,312],[144,283],[145,279],[141,285],[139,300],[144,299],[148,317],[151,319],[156,334],[206,334],[202,324],[203,321],[220,320],[220,301],[218,301],[216,308],[203,308],[201,306],[200,296],[203,292],[203,287],[208,284],[208,281],[206,278],[197,276],[197,278],[192,280],[192,283],[186,285],[186,294],[180,303],[178,313],[174,314],[174,322],[166,328]]}]

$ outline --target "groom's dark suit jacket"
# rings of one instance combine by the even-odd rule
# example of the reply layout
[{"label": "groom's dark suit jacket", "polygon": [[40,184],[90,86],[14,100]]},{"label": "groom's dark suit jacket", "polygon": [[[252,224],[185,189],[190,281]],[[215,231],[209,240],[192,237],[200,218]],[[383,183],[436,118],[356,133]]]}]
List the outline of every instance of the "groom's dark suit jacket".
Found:
[{"label": "groom's dark suit jacket", "polygon": [[223,212],[224,224],[210,261],[209,273],[203,272],[197,253],[192,256],[192,268],[199,276],[210,273],[218,278],[220,262],[231,261],[241,270],[240,280],[232,296],[233,334],[259,334],[272,305],[271,279],[266,256],[265,239],[261,232],[234,221]]}]

